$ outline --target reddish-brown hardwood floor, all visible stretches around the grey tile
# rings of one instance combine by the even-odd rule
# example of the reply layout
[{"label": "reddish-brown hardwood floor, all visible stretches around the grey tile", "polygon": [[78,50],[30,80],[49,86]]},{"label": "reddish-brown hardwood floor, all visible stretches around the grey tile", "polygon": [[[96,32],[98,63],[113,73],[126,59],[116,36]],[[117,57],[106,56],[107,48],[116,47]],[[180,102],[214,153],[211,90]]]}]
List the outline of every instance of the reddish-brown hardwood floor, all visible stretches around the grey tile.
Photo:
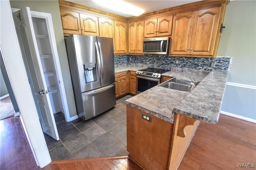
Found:
[{"label": "reddish-brown hardwood floor, all visible stretches around the grey tile", "polygon": [[[19,117],[0,120],[0,169],[39,170]],[[244,163],[239,168],[238,163]],[[245,164],[246,163],[246,164]],[[248,164],[249,163],[249,164]],[[179,170],[255,169],[256,124],[220,114],[218,125],[201,122]],[[243,164],[242,164],[243,165]],[[245,166],[251,167],[245,167]],[[129,157],[53,161],[44,170],[140,170]]]}]

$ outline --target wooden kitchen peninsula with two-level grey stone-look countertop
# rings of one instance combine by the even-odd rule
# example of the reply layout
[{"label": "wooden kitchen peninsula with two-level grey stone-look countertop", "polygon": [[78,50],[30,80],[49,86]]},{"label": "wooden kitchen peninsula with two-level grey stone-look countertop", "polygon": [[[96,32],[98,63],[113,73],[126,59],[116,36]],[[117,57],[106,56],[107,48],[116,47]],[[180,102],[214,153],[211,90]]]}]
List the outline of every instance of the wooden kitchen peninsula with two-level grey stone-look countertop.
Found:
[{"label": "wooden kitchen peninsula with two-level grey stone-look countertop", "polygon": [[127,150],[145,169],[177,169],[200,121],[218,123],[228,71],[172,68],[162,75],[193,75],[200,83],[189,93],[158,85],[126,100]]}]

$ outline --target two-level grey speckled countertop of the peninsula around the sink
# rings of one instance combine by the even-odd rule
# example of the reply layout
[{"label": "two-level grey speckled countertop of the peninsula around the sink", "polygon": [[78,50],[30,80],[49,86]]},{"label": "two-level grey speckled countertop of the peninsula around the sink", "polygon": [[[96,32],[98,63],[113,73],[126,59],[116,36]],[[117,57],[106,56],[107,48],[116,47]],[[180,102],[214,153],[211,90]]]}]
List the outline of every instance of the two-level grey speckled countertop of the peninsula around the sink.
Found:
[{"label": "two-level grey speckled countertop of the peninsula around the sink", "polygon": [[170,123],[174,123],[175,113],[206,123],[218,123],[228,71],[172,68],[162,75],[186,79],[186,75],[190,75],[201,82],[189,93],[158,85],[126,100],[126,104]]}]

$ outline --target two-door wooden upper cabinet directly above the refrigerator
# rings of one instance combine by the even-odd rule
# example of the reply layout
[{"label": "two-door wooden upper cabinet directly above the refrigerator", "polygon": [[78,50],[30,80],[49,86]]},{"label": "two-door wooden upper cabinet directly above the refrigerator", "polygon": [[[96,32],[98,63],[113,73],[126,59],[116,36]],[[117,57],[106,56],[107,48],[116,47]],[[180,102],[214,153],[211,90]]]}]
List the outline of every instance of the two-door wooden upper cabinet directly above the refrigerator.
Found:
[{"label": "two-door wooden upper cabinet directly above the refrigerator", "polygon": [[99,35],[98,18],[60,7],[64,35]]}]

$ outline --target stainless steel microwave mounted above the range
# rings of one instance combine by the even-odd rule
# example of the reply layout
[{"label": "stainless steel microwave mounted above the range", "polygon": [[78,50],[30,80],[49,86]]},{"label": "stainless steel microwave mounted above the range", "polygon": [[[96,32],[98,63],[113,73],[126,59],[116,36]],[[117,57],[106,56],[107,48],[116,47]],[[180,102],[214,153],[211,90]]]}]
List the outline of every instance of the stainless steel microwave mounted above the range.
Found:
[{"label": "stainless steel microwave mounted above the range", "polygon": [[144,54],[164,54],[168,55],[170,37],[157,37],[143,39]]}]

